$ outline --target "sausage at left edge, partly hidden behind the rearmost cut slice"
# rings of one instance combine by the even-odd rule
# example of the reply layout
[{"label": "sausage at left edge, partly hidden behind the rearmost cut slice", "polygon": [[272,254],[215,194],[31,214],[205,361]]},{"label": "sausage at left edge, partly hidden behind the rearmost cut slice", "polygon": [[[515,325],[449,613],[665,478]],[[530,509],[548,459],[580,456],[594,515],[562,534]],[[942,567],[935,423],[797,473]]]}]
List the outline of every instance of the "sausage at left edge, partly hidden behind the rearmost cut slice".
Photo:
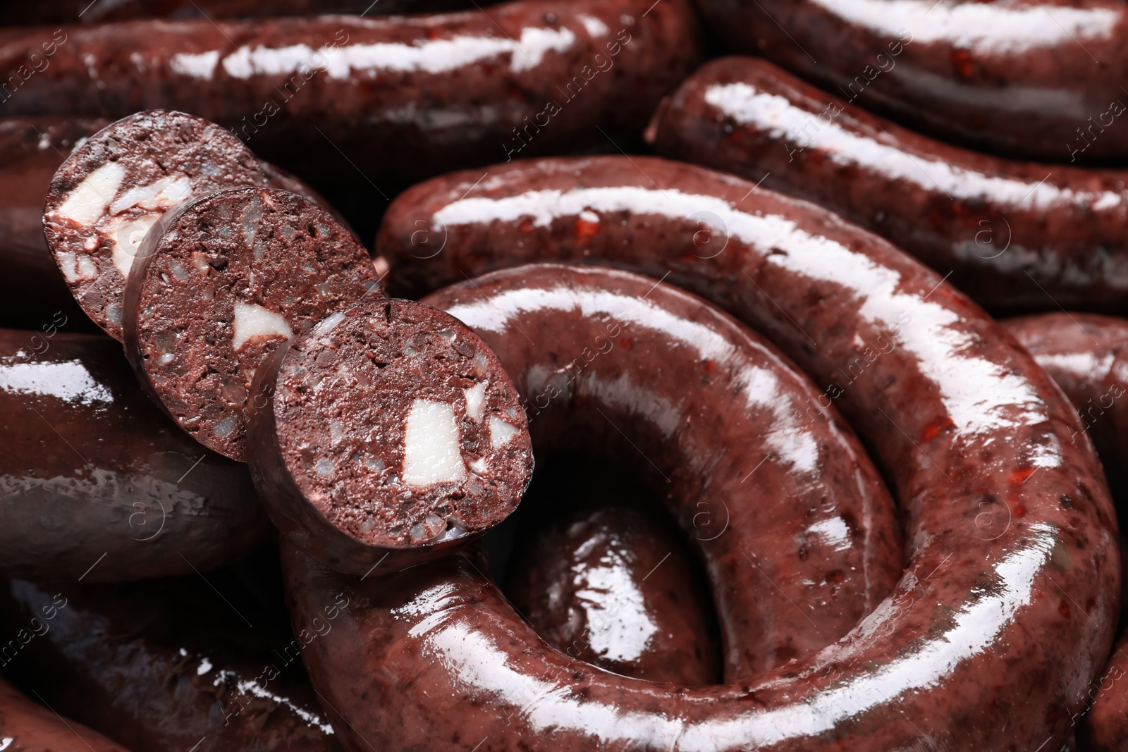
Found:
[{"label": "sausage at left edge, partly hidden behind the rearmost cut slice", "polygon": [[39,329],[55,312],[68,328],[94,330],[63,283],[43,240],[43,197],[51,177],[79,139],[105,127],[100,120],[0,118],[0,325]]}]

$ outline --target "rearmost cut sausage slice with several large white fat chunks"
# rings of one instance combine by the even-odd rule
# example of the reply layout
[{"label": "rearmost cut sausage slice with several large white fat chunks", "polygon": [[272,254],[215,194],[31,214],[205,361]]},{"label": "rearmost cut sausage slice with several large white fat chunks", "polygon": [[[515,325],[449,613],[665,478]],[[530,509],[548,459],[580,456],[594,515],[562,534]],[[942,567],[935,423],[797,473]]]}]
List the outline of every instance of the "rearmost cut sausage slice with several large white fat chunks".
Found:
[{"label": "rearmost cut sausage slice with several large white fat chunks", "polygon": [[121,339],[125,280],[149,228],[193,196],[267,183],[226,129],[184,113],[138,113],[67,158],[51,180],[43,229],[79,304]]}]

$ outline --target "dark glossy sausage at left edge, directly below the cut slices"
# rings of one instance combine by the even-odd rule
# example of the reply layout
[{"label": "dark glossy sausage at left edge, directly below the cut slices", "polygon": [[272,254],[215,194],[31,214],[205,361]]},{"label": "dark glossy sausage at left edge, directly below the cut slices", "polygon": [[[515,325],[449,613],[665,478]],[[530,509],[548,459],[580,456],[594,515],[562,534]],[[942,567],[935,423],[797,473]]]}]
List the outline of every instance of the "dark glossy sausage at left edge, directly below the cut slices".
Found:
[{"label": "dark glossy sausage at left edge, directly below the cut slices", "polygon": [[165,417],[108,337],[0,330],[0,430],[7,576],[205,572],[270,536],[246,467]]}]

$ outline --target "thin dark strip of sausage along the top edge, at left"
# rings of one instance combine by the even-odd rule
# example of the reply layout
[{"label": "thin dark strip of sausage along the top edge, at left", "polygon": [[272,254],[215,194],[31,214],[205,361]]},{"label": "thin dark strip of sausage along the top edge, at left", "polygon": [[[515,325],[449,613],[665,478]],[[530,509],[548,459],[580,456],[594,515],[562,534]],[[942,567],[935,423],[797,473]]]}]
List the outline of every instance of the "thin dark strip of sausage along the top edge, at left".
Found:
[{"label": "thin dark strip of sausage along the top edge, at left", "polygon": [[[482,3],[487,5],[487,3]],[[135,18],[271,18],[361,14],[387,16],[459,10],[460,0],[19,0],[0,2],[0,24],[102,24]]]}]

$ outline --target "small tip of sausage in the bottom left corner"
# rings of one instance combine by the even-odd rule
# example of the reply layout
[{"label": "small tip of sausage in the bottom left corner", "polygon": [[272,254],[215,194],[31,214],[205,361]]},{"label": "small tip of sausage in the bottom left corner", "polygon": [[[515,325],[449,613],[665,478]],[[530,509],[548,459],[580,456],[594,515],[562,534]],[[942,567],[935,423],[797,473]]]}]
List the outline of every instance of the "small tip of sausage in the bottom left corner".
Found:
[{"label": "small tip of sausage in the bottom left corner", "polygon": [[36,705],[0,679],[0,744],[12,752],[129,752]]}]

